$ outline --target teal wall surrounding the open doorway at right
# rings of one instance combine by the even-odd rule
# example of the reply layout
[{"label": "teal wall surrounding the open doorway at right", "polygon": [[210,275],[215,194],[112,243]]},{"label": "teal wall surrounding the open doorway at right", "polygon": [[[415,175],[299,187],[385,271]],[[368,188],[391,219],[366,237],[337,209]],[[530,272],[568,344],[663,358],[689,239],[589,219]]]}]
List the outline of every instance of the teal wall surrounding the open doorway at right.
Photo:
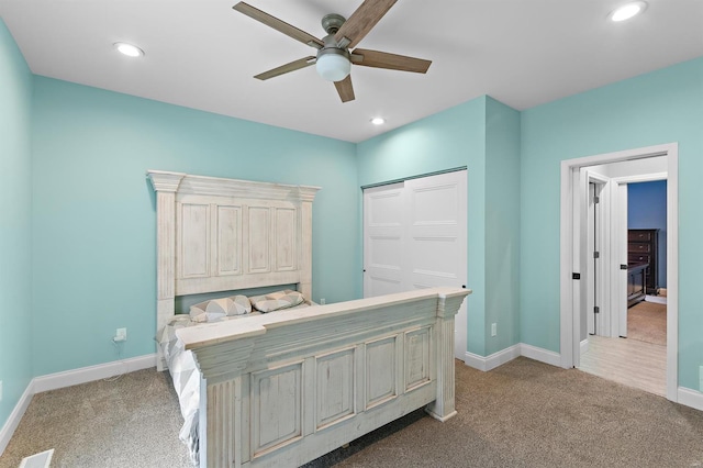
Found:
[{"label": "teal wall surrounding the open doorway at right", "polygon": [[678,142],[679,386],[699,389],[702,129],[703,58],[522,112],[523,343],[559,352],[560,161]]}]

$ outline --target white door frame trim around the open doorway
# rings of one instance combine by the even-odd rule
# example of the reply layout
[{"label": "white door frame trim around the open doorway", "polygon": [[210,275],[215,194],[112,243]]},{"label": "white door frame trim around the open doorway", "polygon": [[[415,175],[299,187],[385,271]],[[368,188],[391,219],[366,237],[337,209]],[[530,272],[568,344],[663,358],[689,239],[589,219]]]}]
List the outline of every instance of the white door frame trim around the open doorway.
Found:
[{"label": "white door frame trim around the open doorway", "polygon": [[585,281],[582,271],[584,230],[579,196],[580,169],[601,164],[667,156],[667,399],[678,401],[679,349],[679,145],[669,143],[561,161],[560,207],[560,354],[561,367],[572,368],[580,357],[579,314]]}]

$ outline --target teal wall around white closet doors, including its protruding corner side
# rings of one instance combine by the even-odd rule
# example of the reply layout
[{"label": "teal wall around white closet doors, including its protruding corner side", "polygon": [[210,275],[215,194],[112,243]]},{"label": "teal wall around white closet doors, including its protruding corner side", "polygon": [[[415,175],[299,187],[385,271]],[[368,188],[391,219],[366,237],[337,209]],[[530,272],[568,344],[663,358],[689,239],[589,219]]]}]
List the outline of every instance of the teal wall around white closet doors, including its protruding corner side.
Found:
[{"label": "teal wall around white closet doors, including its protruding corner side", "polygon": [[467,347],[518,343],[520,113],[481,97],[360,143],[357,161],[361,186],[467,167]]}]

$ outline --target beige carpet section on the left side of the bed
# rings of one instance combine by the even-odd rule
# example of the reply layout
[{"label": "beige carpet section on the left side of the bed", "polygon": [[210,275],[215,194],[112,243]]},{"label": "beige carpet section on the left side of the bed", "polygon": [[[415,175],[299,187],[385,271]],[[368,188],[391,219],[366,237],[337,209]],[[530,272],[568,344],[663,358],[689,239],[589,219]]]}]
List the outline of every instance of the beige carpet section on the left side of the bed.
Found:
[{"label": "beige carpet section on the left side of the bed", "polygon": [[0,468],[49,448],[52,468],[188,467],[182,423],[170,377],[156,369],[37,393]]}]

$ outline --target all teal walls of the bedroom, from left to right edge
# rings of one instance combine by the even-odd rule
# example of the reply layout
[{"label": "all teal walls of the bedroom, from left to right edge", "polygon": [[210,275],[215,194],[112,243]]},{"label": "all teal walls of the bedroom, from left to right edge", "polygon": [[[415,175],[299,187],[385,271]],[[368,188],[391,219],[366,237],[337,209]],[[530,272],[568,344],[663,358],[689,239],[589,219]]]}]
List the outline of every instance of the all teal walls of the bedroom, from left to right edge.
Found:
[{"label": "all teal walls of the bedroom, from left to right edge", "polygon": [[670,142],[679,385],[698,389],[703,58],[522,113],[481,97],[358,145],[33,77],[2,22],[0,82],[0,424],[32,377],[115,360],[116,327],[120,357],[154,352],[147,169],[321,186],[313,299],[336,302],[361,294],[359,187],[466,166],[468,350],[558,353],[560,161]]}]

